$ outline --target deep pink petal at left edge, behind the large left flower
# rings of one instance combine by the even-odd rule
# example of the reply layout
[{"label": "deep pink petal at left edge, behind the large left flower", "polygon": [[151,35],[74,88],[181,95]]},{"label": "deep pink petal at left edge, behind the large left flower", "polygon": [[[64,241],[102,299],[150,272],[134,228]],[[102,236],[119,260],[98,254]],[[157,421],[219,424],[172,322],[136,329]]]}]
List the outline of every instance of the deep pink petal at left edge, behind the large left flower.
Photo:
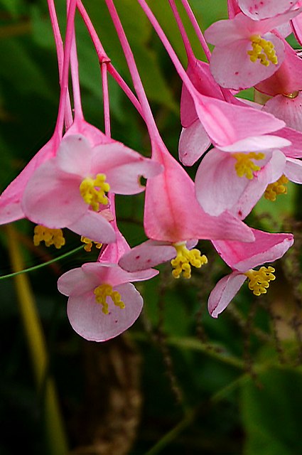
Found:
[{"label": "deep pink petal at left edge, behind the large left flower", "polygon": [[52,137],[38,153],[33,156],[28,165],[18,174],[9,186],[0,196],[0,225],[11,223],[11,221],[19,220],[25,215],[21,208],[21,199],[23,191],[28,183],[29,178],[36,171],[36,168],[41,166],[45,161],[55,156],[56,139]]}]

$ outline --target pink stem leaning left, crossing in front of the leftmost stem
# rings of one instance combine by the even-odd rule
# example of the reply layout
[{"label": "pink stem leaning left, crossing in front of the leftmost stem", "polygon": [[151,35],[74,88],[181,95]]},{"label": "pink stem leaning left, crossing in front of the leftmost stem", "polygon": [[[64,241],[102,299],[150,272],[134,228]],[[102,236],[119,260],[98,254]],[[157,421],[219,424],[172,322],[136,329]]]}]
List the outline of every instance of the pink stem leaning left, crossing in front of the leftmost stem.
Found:
[{"label": "pink stem leaning left, crossing in front of the leftmost stem", "polygon": [[63,61],[63,70],[62,70],[62,77],[61,77],[61,92],[60,92],[60,101],[59,101],[59,109],[58,109],[58,118],[57,118],[57,123],[55,124],[55,132],[58,133],[60,139],[62,138],[62,133],[63,133],[64,112],[65,112],[65,105],[66,105],[66,97],[68,95],[70,50],[71,50],[72,36],[73,36],[73,30],[74,30],[75,6],[76,6],[76,0],[70,0],[70,6],[68,8],[68,15],[67,15],[67,26],[66,26],[65,47],[64,47],[64,61]]}]

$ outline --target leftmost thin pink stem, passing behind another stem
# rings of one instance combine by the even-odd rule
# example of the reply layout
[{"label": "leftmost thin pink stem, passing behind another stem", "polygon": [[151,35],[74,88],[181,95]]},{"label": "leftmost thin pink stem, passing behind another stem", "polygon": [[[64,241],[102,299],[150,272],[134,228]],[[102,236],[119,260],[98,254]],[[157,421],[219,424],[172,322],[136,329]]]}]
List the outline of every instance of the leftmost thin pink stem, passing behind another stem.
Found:
[{"label": "leftmost thin pink stem, passing behind another stem", "polygon": [[[48,0],[48,10],[50,15],[50,22],[53,28],[53,36],[55,38],[55,48],[57,50],[58,58],[58,70],[59,70],[59,79],[61,82],[62,79],[62,70],[63,70],[63,60],[64,60],[64,50],[63,50],[63,41],[60,33],[60,27],[58,24],[58,17],[55,11],[55,4],[53,0]],[[72,110],[70,105],[70,96],[67,92],[66,96],[66,106],[65,106],[65,128],[68,129],[72,124]]]}]

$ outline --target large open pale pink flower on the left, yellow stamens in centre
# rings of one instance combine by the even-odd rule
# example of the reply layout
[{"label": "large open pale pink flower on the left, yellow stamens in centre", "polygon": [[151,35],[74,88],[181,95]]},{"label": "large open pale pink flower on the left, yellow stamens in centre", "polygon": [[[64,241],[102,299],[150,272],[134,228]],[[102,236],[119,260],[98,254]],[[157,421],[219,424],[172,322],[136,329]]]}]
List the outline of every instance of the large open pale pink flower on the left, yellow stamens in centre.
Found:
[{"label": "large open pale pink flower on the left, yellow stamens in centre", "polygon": [[67,227],[96,242],[114,242],[114,230],[102,216],[106,193],[140,193],[139,176],[160,171],[161,166],[117,141],[93,147],[81,134],[70,134],[55,158],[28,181],[22,208],[30,220],[48,228]]}]

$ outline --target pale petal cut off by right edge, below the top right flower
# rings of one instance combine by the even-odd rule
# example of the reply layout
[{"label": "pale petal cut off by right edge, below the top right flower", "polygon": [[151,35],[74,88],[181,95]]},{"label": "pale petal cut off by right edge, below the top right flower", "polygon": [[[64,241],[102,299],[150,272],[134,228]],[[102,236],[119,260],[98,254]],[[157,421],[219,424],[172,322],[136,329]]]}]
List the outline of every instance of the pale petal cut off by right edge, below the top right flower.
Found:
[{"label": "pale petal cut off by right edge, below the top right flower", "polygon": [[263,110],[274,114],[286,122],[286,126],[302,132],[302,94],[296,98],[288,98],[284,95],[276,95],[267,101]]}]

